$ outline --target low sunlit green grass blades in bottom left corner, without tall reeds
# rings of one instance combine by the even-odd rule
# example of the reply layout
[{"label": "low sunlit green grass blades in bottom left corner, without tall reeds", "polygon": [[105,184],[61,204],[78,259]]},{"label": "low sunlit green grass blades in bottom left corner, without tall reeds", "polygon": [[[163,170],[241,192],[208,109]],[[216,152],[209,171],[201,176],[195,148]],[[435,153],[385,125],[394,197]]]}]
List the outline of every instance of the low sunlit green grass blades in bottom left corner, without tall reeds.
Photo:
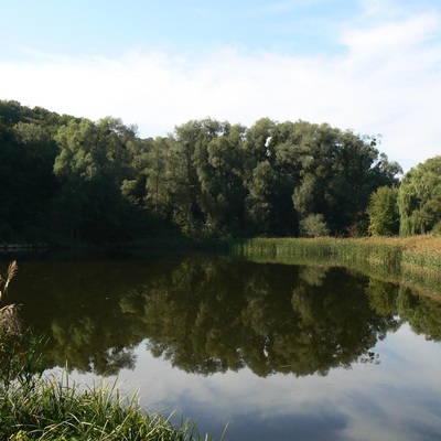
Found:
[{"label": "low sunlit green grass blades in bottom left corner, without tall reeds", "polygon": [[80,389],[64,378],[36,378],[1,387],[1,440],[186,441],[202,438],[195,423],[148,415],[137,397],[115,384]]}]

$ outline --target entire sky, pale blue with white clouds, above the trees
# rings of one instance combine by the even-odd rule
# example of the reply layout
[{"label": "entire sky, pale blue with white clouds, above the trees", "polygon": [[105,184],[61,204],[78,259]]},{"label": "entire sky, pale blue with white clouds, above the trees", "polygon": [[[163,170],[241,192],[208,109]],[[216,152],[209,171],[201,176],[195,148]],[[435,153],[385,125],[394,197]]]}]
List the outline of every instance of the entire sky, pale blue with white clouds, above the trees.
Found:
[{"label": "entire sky, pale blue with white clouds, above the trees", "polygon": [[441,154],[439,0],[0,0],[0,99],[142,137],[269,117]]}]

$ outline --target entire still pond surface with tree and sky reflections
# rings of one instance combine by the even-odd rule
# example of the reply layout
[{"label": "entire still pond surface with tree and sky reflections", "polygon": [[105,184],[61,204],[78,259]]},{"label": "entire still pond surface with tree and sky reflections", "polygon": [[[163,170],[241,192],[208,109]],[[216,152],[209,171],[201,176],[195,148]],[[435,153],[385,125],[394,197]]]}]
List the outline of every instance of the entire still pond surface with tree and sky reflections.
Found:
[{"label": "entire still pond surface with tree and sky reflections", "polygon": [[440,440],[441,302],[345,269],[228,257],[19,261],[46,367],[118,376],[226,440]]}]

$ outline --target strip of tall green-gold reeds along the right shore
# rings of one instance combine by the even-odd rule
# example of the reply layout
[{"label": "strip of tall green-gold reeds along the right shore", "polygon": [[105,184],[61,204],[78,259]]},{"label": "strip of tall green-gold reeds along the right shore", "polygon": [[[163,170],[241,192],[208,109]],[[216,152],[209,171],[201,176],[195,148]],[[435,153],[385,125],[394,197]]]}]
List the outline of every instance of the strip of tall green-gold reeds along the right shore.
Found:
[{"label": "strip of tall green-gold reeds along the right shore", "polygon": [[441,299],[441,237],[256,238],[237,241],[234,252],[256,261],[344,266]]}]

